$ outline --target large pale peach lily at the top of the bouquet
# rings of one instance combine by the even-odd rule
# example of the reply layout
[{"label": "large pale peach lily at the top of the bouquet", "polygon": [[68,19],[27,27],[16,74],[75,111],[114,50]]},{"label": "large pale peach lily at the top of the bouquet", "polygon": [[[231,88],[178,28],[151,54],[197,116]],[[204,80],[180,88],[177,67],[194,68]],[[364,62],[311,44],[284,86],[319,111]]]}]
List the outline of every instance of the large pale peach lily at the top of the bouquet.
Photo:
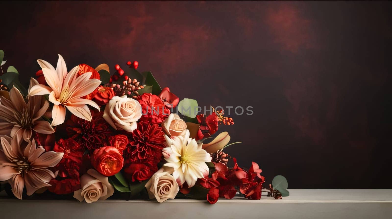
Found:
[{"label": "large pale peach lily at the top of the bouquet", "polygon": [[[98,79],[90,79],[92,72],[87,72],[78,77],[79,65],[67,72],[63,57],[58,55],[57,67],[44,60],[37,60],[42,68],[45,81],[49,85],[35,85],[29,91],[29,96],[49,94],[49,101],[54,103],[52,109],[52,126],[60,125],[65,120],[65,108],[75,116],[91,121],[91,112],[87,105],[98,110],[99,106],[92,100],[83,99],[91,94],[101,83]],[[86,105],[87,104],[87,105]]]}]

